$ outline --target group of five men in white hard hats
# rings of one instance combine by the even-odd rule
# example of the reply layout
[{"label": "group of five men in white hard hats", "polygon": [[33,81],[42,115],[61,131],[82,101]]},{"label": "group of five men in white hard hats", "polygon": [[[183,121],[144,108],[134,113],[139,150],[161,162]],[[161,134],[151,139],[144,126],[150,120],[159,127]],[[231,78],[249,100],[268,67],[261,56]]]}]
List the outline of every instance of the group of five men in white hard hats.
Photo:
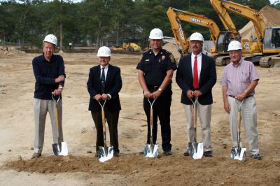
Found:
[{"label": "group of five men in white hard hats", "polygon": [[[176,83],[181,88],[181,103],[185,111],[188,142],[195,141],[195,128],[193,126],[193,102],[197,98],[197,114],[202,129],[202,143],[204,156],[212,157],[211,148],[211,104],[213,103],[212,88],[216,84],[216,65],[214,59],[202,53],[204,38],[200,33],[190,36],[192,51],[182,57],[179,66],[171,52],[162,49],[162,31],[158,28],[150,33],[151,49],[144,52],[137,65],[139,84],[144,94],[144,110],[147,117],[148,133],[147,143],[151,143],[150,104],[148,99],[156,99],[153,106],[153,143],[156,143],[158,119],[160,120],[162,150],[164,155],[172,155],[170,107],[172,103],[172,76],[176,71]],[[64,62],[62,57],[54,55],[57,38],[48,35],[43,41],[43,55],[33,59],[36,86],[34,93],[34,122],[35,139],[33,157],[41,157],[45,129],[45,116],[49,111],[53,141],[63,141],[62,127],[58,128],[59,138],[55,127],[55,111],[51,94],[61,95],[64,80]],[[261,159],[258,148],[257,110],[255,106],[254,89],[258,85],[258,76],[253,63],[241,59],[241,44],[232,41],[228,51],[231,62],[225,66],[221,85],[223,87],[224,108],[230,117],[230,132],[233,145],[237,145],[237,108],[244,100],[242,121],[246,131],[251,155]],[[109,125],[110,143],[113,146],[113,155],[118,157],[118,117],[120,113],[119,94],[122,88],[120,68],[109,64],[111,50],[107,47],[99,48],[97,52],[99,65],[90,69],[87,81],[87,90],[90,94],[89,110],[97,129],[96,150],[104,146],[102,136],[102,110],[99,101],[106,100],[104,107],[106,121]],[[62,109],[62,102],[59,108]],[[62,112],[59,112],[59,122],[62,121]],[[188,149],[184,153],[188,156]]]}]

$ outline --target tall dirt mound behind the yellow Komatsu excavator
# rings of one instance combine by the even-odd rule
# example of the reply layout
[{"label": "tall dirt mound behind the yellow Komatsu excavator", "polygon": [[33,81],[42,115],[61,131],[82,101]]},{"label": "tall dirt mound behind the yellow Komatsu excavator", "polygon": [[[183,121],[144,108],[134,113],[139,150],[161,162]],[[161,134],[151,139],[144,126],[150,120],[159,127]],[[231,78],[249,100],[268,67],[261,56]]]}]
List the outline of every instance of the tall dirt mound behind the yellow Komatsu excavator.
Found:
[{"label": "tall dirt mound behind the yellow Komatsu excavator", "polygon": [[[266,27],[280,26],[280,10],[272,8],[271,6],[265,6],[260,10]],[[253,22],[248,22],[242,29],[239,30],[241,38],[250,40],[255,38],[255,29]]]}]

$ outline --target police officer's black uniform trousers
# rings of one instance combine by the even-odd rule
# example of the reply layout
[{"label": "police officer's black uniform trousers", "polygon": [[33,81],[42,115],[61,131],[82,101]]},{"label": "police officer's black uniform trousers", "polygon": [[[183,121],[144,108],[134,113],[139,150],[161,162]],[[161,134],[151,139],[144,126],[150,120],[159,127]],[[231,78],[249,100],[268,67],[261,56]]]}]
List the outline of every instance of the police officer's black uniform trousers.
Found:
[{"label": "police officer's black uniform trousers", "polygon": [[[151,91],[151,90],[150,90]],[[153,92],[153,91],[151,91]],[[152,102],[153,99],[150,99]],[[171,129],[170,129],[170,106],[172,101],[172,90],[165,90],[160,97],[155,100],[153,104],[153,143],[157,141],[158,133],[158,118],[160,120],[160,127],[162,131],[162,149],[164,151],[171,150]],[[147,143],[151,143],[151,127],[150,127],[150,111],[151,105],[148,99],[144,98],[144,110],[148,121],[148,135]]]}]

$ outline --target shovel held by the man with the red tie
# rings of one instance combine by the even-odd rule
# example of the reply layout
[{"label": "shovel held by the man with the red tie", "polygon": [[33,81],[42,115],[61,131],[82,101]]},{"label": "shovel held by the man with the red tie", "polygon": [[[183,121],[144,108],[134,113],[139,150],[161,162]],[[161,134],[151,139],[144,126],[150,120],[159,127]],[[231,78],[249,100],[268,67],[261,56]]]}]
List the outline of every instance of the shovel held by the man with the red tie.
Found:
[{"label": "shovel held by the man with the red tie", "polygon": [[190,99],[193,102],[193,127],[195,128],[195,141],[188,143],[188,152],[193,159],[201,159],[203,156],[203,143],[197,143],[197,100],[198,97]]}]

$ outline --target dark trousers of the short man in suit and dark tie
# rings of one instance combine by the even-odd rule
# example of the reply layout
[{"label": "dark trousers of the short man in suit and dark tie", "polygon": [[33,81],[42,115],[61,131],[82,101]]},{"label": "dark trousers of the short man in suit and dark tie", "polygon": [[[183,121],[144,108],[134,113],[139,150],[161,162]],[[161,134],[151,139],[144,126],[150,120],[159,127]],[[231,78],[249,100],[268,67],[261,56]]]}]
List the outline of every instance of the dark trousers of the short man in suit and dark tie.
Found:
[{"label": "dark trousers of the short man in suit and dark tie", "polygon": [[[106,107],[104,108],[104,111],[105,111],[106,123],[108,123],[109,126],[110,145],[113,146],[114,152],[120,152],[120,150],[118,149],[118,116],[120,114],[120,111],[112,113]],[[99,146],[104,147],[104,138],[103,138],[103,129],[102,129],[102,111],[91,112],[91,113],[92,113],[92,119],[95,124],[95,128],[97,129],[97,141],[96,141],[96,151],[97,151],[99,149]],[[106,138],[108,139],[108,134],[106,134]]]}]

